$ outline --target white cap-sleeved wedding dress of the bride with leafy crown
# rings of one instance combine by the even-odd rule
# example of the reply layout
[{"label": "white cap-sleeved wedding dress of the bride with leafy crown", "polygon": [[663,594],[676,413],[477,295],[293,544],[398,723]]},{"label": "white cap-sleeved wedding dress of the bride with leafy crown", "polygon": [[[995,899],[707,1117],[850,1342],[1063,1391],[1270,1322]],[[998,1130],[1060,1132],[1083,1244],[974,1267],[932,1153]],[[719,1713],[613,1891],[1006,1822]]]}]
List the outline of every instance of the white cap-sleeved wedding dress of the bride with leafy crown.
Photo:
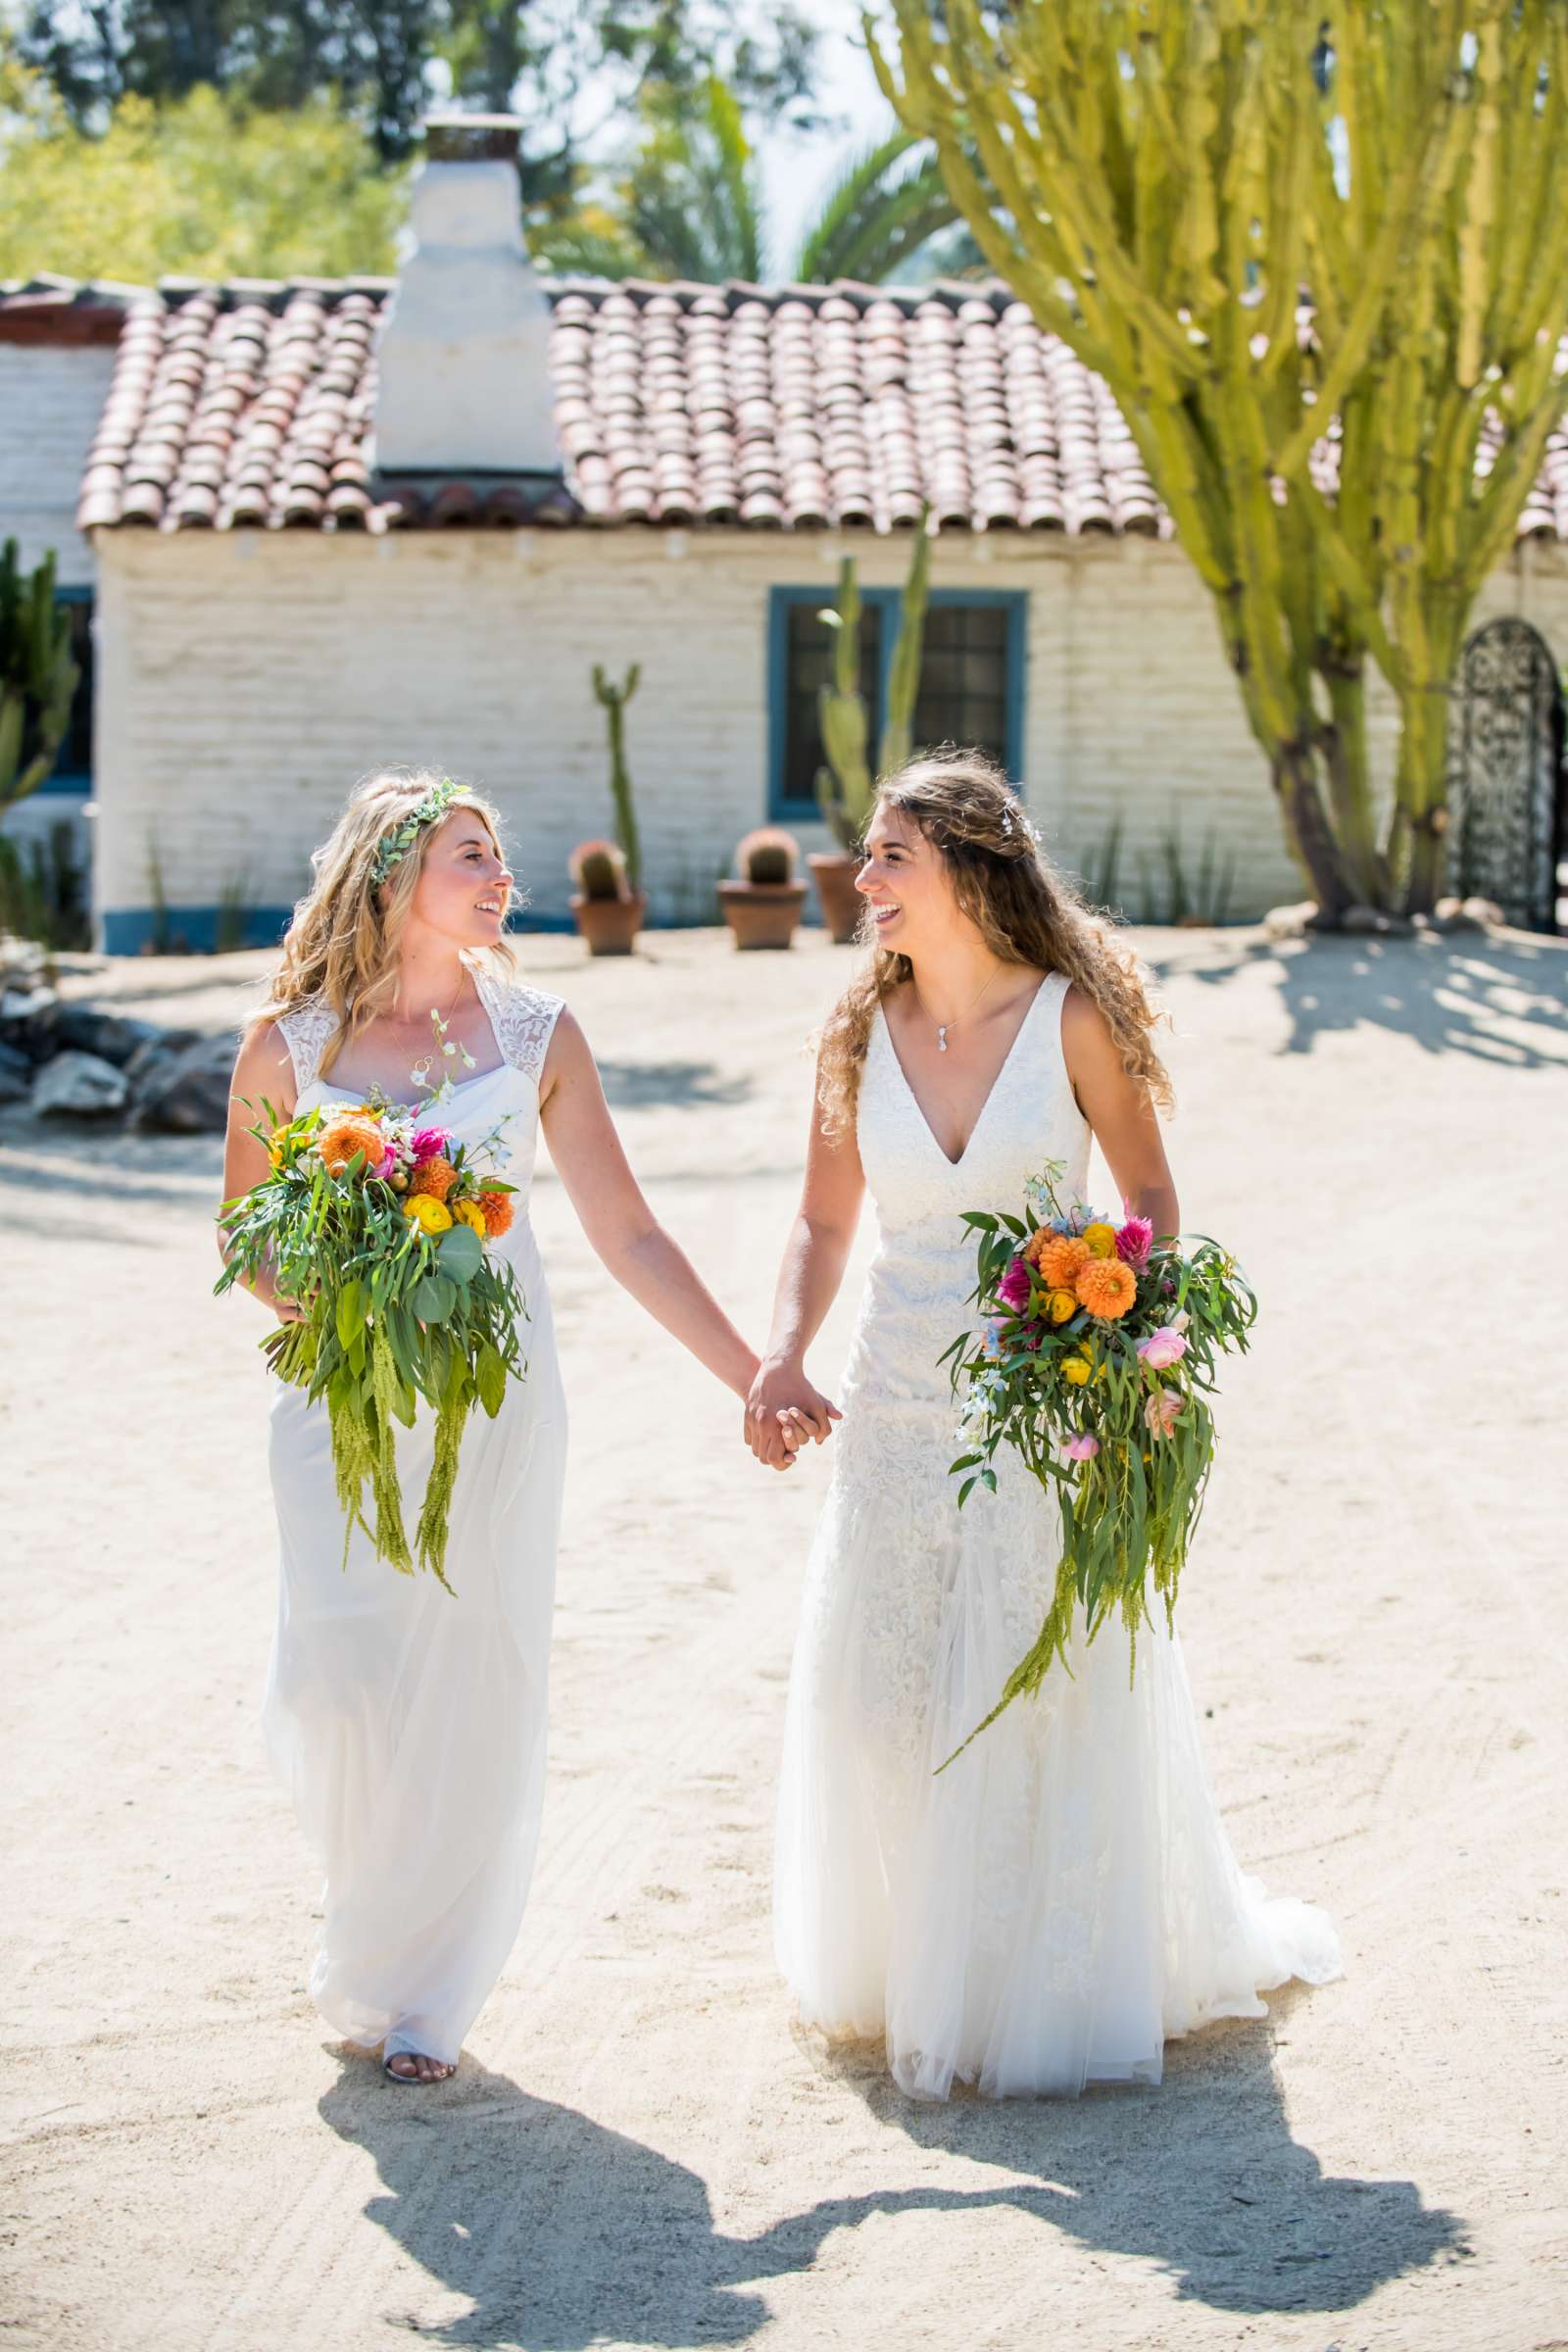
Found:
[{"label": "white cap-sleeved wedding dress of the bride with leafy crown", "polygon": [[[538,1073],[559,997],[475,969],[496,1065],[454,1087],[433,1117],[480,1143],[505,1122],[496,1174],[520,1190],[491,1249],[517,1268],[527,1378],[494,1421],[463,1432],[444,1592],[400,1576],[343,1515],[327,1406],[273,1397],[273,1494],[282,1541],[266,1740],[327,1872],[310,1994],[350,2042],[456,2063],[522,1922],[545,1778],[545,1693],[567,1406],[550,1296],[529,1223]],[[317,1077],[334,1014],[308,1004],[277,1023],[299,1110],[360,1101]],[[397,1430],[411,1526],[430,1472],[435,1416]]]}]

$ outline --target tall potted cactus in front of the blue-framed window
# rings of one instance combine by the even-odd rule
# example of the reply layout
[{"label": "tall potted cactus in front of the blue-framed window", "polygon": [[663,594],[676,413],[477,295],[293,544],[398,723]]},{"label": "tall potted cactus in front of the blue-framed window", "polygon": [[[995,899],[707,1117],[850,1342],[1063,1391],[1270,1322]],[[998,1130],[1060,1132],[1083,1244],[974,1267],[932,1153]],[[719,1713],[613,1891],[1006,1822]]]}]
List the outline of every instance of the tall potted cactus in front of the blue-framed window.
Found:
[{"label": "tall potted cactus in front of the blue-framed window", "polygon": [[[931,593],[929,517],[931,508],[922,506],[910,576],[903,588],[898,644],[889,673],[886,720],[882,743],[877,746],[879,776],[903,767],[914,748],[914,696],[919,694],[926,602]],[[860,696],[860,583],[853,555],[846,555],[839,564],[839,602],[837,607],[827,607],[823,621],[832,628],[835,644],[832,684],[818,694],[827,764],[816,771],[816,800],[839,847],[837,851],[813,851],[809,866],[823,906],[823,922],[835,946],[842,948],[860,927],[860,891],[856,889],[856,873],[860,868],[858,849],[865,821],[872,814],[872,774],[865,760],[867,720]]]}]

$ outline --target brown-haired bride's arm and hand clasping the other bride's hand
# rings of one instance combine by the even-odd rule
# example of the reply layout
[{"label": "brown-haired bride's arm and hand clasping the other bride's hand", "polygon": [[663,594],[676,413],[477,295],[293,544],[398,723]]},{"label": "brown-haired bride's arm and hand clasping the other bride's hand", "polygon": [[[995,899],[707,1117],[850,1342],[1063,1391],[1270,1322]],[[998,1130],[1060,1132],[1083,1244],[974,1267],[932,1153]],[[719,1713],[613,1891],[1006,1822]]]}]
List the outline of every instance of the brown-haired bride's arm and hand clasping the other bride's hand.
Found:
[{"label": "brown-haired bride's arm and hand clasping the other bride's hand", "polygon": [[853,1134],[830,1141],[813,1103],[806,1183],[778,1268],[769,1352],[745,1404],[745,1435],[752,1454],[764,1461],[780,1414],[792,1414],[797,1432],[816,1437],[818,1444],[839,1418],[837,1404],[806,1378],[806,1348],[839,1294],[863,1192],[865,1176]]}]

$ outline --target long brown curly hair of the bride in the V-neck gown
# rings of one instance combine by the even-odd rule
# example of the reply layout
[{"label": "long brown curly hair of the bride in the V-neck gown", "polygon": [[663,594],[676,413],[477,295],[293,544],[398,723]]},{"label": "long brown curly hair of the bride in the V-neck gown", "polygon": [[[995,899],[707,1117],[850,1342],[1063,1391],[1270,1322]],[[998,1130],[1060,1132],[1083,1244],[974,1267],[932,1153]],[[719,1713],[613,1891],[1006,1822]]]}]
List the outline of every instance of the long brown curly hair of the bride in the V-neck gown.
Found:
[{"label": "long brown curly hair of the bride in the V-neck gown", "polygon": [[[1133,950],[1084,903],[1074,882],[1034,840],[1006,774],[980,750],[936,750],[907,760],[877,786],[877,809],[898,809],[938,851],[959,910],[1004,964],[1063,971],[1105,1014],[1128,1077],[1173,1105],[1171,1080],[1152,1033],[1166,1018],[1150,997]],[[818,1120],[830,1141],[856,1122],[860,1070],[884,997],[914,967],[898,948],[879,948],[863,922],[870,962],[853,976],[818,1042]]]}]

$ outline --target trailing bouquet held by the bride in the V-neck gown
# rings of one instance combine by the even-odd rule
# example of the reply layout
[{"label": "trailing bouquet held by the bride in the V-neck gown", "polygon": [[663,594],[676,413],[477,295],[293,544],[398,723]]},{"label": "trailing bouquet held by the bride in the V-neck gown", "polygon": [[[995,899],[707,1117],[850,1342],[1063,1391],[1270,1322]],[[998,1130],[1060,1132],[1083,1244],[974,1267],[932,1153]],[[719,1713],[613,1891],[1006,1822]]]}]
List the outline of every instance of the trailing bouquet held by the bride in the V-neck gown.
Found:
[{"label": "trailing bouquet held by the bride in the V-neck gown", "polygon": [[[1218,1242],[1157,1240],[1143,1216],[1112,1221],[1063,1209],[1060,1164],[1025,1188],[1025,1216],[966,1211],[978,1242],[973,1301],[985,1324],[943,1350],[952,1385],[966,1383],[952,1463],[997,1489],[997,1446],[1009,1444],[1063,1522],[1063,1557],[1046,1623],[1013,1668],[999,1703],[1037,1691],[1051,1661],[1067,1663],[1074,1604],[1088,1639],[1112,1609],[1138,1639],[1147,1585],[1175,1613],[1175,1585],[1213,1465],[1208,1397],[1215,1357],[1246,1350],[1258,1301]],[[969,1745],[969,1740],[964,1743]]]}]

